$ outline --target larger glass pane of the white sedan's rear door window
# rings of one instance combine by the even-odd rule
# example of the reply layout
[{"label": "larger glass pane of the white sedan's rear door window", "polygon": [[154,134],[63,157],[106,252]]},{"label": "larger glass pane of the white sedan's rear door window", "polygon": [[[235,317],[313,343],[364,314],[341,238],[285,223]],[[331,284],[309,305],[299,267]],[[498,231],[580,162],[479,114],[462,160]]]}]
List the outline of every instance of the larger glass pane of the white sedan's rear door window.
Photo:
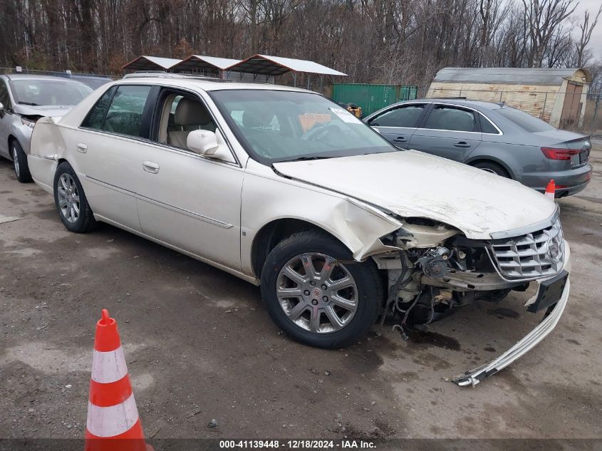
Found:
[{"label": "larger glass pane of the white sedan's rear door window", "polygon": [[142,112],[151,86],[122,85],[113,96],[102,130],[120,135],[140,136]]}]

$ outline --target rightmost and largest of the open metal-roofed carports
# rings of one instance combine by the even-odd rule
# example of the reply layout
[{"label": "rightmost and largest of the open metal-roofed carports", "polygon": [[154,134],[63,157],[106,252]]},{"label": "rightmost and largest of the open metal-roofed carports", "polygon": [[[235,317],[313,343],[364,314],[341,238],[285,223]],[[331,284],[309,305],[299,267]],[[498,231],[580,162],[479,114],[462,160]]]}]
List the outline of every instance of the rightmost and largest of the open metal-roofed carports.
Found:
[{"label": "rightmost and largest of the open metal-roofed carports", "polygon": [[[227,71],[228,73],[238,73],[241,80],[256,81],[261,76],[261,81],[272,81],[272,83],[274,77],[291,73],[294,85],[297,84],[297,74],[305,73],[308,87],[313,74],[318,75],[320,80],[322,80],[323,76],[347,76],[346,73],[335,71],[313,61],[259,54],[233,64],[227,68]],[[252,78],[251,80],[249,80],[249,76]],[[236,76],[229,76],[228,78],[237,79]]]}]

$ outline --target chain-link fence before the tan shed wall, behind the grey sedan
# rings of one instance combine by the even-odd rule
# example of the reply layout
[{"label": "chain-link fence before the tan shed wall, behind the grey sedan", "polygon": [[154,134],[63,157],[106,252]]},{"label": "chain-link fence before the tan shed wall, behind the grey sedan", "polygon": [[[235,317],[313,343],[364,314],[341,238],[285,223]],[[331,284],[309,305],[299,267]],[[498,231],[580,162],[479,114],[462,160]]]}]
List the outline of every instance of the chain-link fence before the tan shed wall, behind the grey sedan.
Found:
[{"label": "chain-link fence before the tan shed wall, behind the grey sedan", "polygon": [[602,93],[418,88],[417,98],[465,98],[519,108],[554,128],[602,137]]}]

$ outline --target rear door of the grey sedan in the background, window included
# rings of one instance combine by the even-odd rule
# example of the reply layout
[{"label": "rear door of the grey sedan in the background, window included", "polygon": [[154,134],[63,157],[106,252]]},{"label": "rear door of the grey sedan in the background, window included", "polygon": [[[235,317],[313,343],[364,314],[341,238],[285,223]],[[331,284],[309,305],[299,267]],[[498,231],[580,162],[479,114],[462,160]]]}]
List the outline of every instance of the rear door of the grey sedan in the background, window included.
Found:
[{"label": "rear door of the grey sedan in the background, window included", "polygon": [[410,139],[410,149],[462,162],[482,141],[478,113],[435,103]]}]

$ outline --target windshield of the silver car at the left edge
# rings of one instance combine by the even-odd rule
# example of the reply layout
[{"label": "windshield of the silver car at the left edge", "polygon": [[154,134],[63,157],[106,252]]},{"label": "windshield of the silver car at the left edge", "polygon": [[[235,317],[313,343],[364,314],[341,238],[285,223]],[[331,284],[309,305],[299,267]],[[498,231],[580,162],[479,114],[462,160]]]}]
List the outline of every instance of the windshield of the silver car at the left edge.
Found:
[{"label": "windshield of the silver car at the left edge", "polygon": [[63,80],[11,80],[16,103],[21,105],[77,105],[93,89],[74,81]]}]

